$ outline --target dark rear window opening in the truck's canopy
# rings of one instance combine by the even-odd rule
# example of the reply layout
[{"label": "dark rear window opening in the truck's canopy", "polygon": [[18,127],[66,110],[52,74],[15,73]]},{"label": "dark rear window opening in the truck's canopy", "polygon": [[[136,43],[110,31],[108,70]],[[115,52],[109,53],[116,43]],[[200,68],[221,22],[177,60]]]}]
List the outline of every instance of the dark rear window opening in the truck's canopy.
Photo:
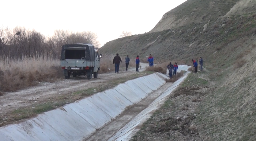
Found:
[{"label": "dark rear window opening in the truck's canopy", "polygon": [[65,59],[84,60],[85,50],[65,50]]}]

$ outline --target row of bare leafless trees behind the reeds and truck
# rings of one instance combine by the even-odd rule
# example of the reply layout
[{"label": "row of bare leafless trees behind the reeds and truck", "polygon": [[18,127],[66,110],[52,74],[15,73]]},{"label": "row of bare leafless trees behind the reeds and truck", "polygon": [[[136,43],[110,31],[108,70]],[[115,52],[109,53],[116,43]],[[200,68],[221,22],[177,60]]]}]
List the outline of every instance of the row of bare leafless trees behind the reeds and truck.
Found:
[{"label": "row of bare leafless trees behind the reeds and truck", "polygon": [[59,58],[63,44],[86,43],[98,49],[100,44],[97,39],[97,34],[91,31],[55,30],[53,36],[45,37],[40,32],[24,27],[15,27],[13,30],[0,27],[0,55],[10,58],[54,55]]}]

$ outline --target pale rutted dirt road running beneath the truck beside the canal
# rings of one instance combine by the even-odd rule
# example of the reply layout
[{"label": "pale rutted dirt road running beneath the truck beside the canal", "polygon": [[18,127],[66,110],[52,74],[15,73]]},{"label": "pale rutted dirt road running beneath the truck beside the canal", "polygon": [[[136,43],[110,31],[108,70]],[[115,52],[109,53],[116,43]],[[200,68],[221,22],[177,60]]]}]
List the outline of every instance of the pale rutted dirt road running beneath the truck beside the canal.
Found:
[{"label": "pale rutted dirt road running beneath the truck beside the canal", "polygon": [[[140,71],[144,71],[148,64],[141,63]],[[29,107],[35,103],[45,103],[61,95],[69,94],[74,91],[84,90],[91,87],[98,87],[111,79],[123,77],[124,75],[135,74],[135,68],[130,68],[128,71],[120,69],[119,73],[114,72],[98,74],[97,79],[87,80],[86,77],[78,77],[71,79],[61,79],[55,83],[40,83],[39,86],[31,87],[29,89],[20,90],[14,93],[6,93],[0,97],[0,115],[7,112],[20,109],[22,107]]]}]

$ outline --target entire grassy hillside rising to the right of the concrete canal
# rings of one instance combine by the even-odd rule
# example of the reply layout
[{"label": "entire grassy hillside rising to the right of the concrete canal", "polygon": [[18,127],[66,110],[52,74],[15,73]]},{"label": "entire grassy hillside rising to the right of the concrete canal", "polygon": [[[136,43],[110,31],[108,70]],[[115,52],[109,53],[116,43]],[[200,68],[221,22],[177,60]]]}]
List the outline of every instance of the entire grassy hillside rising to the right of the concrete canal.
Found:
[{"label": "entire grassy hillside rising to the right of the concrete canal", "polygon": [[[190,74],[180,88],[195,91],[191,87],[202,86],[204,89],[196,92],[203,95],[192,97],[184,92],[175,100],[170,98],[133,140],[255,140],[255,0],[188,0],[167,12],[150,32],[110,41],[100,51],[139,54],[142,59],[152,54],[156,60],[178,64],[204,58],[206,70]],[[192,98],[200,101],[191,104],[195,103]],[[196,118],[186,121],[185,127],[174,128],[179,125],[176,117],[195,113]]]}]

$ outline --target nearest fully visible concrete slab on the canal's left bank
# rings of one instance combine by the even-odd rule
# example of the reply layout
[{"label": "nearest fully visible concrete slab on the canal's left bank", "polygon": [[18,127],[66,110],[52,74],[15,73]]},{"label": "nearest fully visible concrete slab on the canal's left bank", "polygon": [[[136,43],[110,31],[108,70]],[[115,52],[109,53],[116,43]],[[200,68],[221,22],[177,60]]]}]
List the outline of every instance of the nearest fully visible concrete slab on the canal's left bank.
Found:
[{"label": "nearest fully visible concrete slab on the canal's left bank", "polygon": [[71,141],[83,140],[96,131],[92,125],[67,106],[39,114],[38,117]]}]

